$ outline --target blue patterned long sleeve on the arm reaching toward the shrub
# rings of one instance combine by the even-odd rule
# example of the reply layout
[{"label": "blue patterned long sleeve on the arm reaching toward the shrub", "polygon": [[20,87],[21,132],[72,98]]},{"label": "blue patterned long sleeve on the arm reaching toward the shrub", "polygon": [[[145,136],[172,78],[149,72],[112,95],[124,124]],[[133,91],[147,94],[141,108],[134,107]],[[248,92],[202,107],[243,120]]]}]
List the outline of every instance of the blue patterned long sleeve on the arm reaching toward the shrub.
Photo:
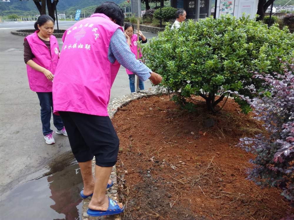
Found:
[{"label": "blue patterned long sleeve on the arm reaching toward the shrub", "polygon": [[152,72],[141,61],[136,60],[135,54],[130,50],[127,40],[120,28],[111,37],[108,60],[113,64],[117,60],[123,67],[136,74],[142,81],[146,81]]}]

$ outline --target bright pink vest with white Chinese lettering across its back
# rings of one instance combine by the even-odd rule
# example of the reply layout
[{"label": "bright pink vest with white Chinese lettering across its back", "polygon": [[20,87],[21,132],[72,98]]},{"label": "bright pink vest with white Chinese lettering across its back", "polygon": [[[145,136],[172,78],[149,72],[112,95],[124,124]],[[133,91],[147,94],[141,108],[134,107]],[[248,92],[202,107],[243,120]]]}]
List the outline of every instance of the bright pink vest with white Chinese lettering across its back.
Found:
[{"label": "bright pink vest with white Chinese lettering across its back", "polygon": [[69,28],[53,81],[56,111],[108,116],[110,89],[120,64],[108,60],[113,33],[120,28],[104,14],[93,14]]}]

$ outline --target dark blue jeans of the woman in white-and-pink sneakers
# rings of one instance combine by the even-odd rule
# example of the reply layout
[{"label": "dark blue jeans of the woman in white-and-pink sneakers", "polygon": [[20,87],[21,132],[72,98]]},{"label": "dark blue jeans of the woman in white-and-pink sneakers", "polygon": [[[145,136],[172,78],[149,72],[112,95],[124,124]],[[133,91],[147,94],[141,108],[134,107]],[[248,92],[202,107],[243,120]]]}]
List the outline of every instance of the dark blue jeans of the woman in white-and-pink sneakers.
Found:
[{"label": "dark blue jeans of the woman in white-and-pink sneakers", "polygon": [[[53,112],[52,92],[37,92],[37,95],[41,106],[43,135],[46,136],[52,132],[50,129],[51,113]],[[57,130],[61,130],[64,126],[59,115],[53,114],[53,123]]]}]

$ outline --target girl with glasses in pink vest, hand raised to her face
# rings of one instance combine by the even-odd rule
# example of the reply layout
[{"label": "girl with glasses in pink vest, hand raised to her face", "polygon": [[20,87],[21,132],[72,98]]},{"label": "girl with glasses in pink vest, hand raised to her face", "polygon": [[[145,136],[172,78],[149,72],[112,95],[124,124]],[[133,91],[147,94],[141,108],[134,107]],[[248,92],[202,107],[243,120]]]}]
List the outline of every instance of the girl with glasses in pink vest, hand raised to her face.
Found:
[{"label": "girl with glasses in pink vest, hand raised to her face", "polygon": [[[132,51],[133,54],[136,55],[136,58],[138,58],[138,46],[137,46],[137,35],[134,34],[134,26],[132,23],[126,23],[125,24],[125,36],[127,38],[127,43],[130,46],[130,49]],[[136,32],[136,34],[138,34],[138,31]],[[147,38],[142,34],[141,31],[139,31],[139,41],[141,43],[147,43]],[[142,53],[140,51],[139,53],[139,59],[142,57]],[[129,80],[130,80],[130,89],[131,92],[136,92],[135,90],[135,74],[132,73],[130,70],[126,69],[127,74],[129,76]],[[144,82],[139,79],[139,88],[140,90],[144,89]]]}]

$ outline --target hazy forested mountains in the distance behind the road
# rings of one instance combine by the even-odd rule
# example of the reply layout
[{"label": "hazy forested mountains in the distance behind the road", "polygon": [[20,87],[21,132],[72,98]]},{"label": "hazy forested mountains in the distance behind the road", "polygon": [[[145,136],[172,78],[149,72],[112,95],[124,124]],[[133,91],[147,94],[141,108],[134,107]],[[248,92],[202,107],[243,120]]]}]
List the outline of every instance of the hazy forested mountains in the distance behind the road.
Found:
[{"label": "hazy forested mountains in the distance behind the road", "polygon": [[[74,11],[76,9],[84,9],[89,6],[98,6],[107,0],[59,0],[57,4],[57,13],[64,11]],[[123,0],[113,0],[116,4],[120,4]],[[0,15],[5,16],[9,14],[36,15],[39,11],[33,0],[10,0],[10,2],[0,1]]]}]

